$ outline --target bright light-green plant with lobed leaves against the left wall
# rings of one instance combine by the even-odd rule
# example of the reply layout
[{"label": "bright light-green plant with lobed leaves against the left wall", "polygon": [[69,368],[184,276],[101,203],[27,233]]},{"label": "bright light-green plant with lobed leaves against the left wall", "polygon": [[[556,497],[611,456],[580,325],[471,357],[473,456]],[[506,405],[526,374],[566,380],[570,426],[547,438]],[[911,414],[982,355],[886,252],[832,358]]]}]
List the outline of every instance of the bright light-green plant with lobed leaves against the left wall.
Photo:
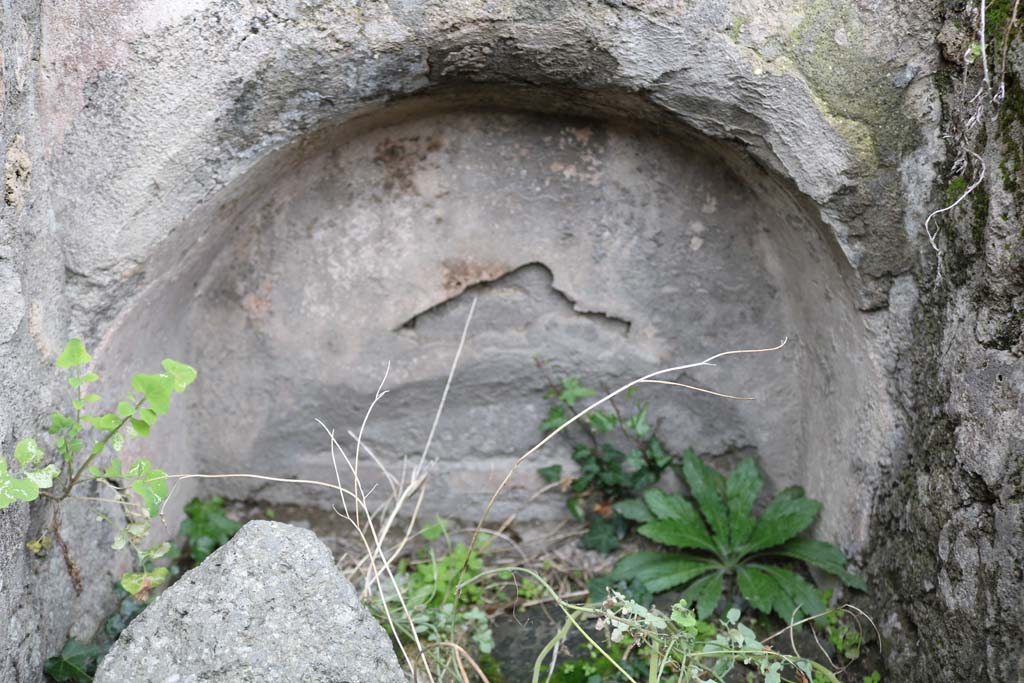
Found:
[{"label": "bright light-green plant with lobed leaves against the left wall", "polygon": [[[167,358],[164,372],[134,375],[131,391],[113,412],[91,412],[101,402],[99,394],[87,390],[99,380],[88,370],[92,356],[80,339],[72,339],[56,359],[56,367],[71,371],[71,411],[54,411],[50,415],[49,434],[52,447],[47,452],[35,438],[23,438],[14,446],[17,473],[8,469],[0,458],[0,509],[15,502],[30,502],[45,497],[52,503],[52,522],[47,532],[29,542],[31,551],[41,554],[52,544],[50,535],[63,553],[65,562],[75,588],[81,591],[78,566],[70,557],[67,544],[60,538],[59,509],[69,502],[79,501],[91,507],[101,501],[117,505],[122,515],[112,517],[99,510],[95,515],[118,529],[114,550],[130,547],[136,554],[140,571],[130,571],[122,578],[125,590],[144,596],[164,583],[167,569],[155,567],[154,560],[162,557],[170,544],[146,548],[144,541],[152,527],[151,519],[160,512],[168,495],[167,473],[156,468],[145,458],[132,463],[114,458],[105,468],[98,459],[109,452],[118,454],[127,439],[145,437],[160,416],[170,410],[171,398],[181,393],[196,380],[196,371]],[[111,493],[110,498],[83,496],[79,492],[99,483]]]}]

